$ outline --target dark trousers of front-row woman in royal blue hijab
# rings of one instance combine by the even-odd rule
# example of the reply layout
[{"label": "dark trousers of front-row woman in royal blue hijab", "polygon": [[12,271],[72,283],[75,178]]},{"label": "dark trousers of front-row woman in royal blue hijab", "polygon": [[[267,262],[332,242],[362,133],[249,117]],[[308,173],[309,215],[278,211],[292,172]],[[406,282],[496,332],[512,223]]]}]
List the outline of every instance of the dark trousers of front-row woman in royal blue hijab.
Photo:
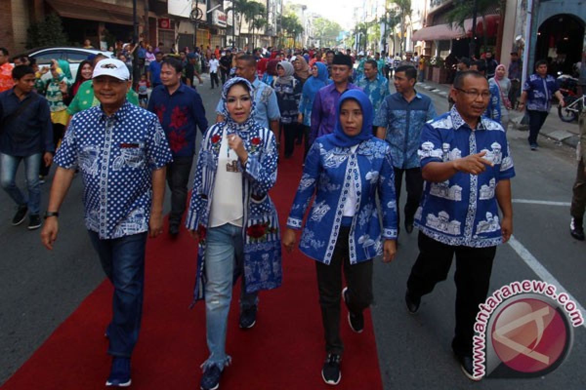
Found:
[{"label": "dark trousers of front-row woman in royal blue hijab", "polygon": [[322,309],[326,351],[342,355],[340,338],[340,303],[342,300],[342,268],[349,291],[348,306],[352,313],[362,313],[372,303],[372,260],[350,265],[348,234],[350,227],[340,227],[340,234],[329,265],[316,261],[319,306]]}]

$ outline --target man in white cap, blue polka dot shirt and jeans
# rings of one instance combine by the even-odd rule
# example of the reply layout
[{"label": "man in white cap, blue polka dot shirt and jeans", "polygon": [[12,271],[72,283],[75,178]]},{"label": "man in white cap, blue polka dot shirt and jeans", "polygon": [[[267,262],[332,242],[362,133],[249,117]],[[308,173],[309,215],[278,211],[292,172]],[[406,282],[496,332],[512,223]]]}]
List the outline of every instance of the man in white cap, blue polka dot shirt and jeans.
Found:
[{"label": "man in white cap, blue polka dot shirt and jeans", "polygon": [[147,236],[162,232],[165,167],[172,157],[156,115],[126,99],[126,64],[99,61],[93,85],[101,104],[71,119],[54,158],[57,171],[41,239],[53,249],[59,208],[79,167],[86,227],[114,285],[113,318],[106,329],[113,362],[106,385],[128,386],[141,323]]}]

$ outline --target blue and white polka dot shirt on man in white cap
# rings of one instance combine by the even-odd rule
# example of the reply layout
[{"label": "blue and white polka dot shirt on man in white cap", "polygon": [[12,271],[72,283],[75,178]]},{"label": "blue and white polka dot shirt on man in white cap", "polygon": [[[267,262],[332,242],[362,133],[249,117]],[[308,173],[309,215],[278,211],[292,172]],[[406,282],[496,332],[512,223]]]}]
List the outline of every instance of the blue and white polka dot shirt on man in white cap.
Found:
[{"label": "blue and white polka dot shirt on man in white cap", "polygon": [[115,239],[148,231],[152,171],[172,157],[156,115],[125,102],[111,116],[100,106],[74,115],[54,161],[79,167],[86,227]]}]

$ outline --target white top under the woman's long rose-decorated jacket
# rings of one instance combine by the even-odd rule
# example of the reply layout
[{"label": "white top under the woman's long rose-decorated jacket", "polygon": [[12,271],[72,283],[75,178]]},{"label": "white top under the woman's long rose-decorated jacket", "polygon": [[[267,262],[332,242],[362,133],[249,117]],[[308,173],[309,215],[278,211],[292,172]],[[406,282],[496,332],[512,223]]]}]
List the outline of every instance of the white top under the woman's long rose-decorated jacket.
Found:
[{"label": "white top under the woman's long rose-decorated jacket", "polygon": [[228,148],[226,128],[224,128],[210,210],[210,227],[222,226],[226,223],[242,227],[244,216],[242,172],[239,171],[238,164],[236,151]]}]

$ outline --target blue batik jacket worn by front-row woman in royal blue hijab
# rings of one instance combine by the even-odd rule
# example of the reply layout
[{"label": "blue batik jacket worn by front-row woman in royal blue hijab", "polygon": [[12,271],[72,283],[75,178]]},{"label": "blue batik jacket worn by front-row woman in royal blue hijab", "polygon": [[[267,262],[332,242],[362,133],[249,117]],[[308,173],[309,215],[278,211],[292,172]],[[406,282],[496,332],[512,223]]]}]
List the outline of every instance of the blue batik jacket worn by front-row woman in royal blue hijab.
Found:
[{"label": "blue batik jacket worn by front-row woman in royal blue hijab", "polygon": [[[288,227],[301,229],[305,211],[316,192],[299,241],[299,249],[306,256],[325,264],[331,262],[352,183],[356,186],[356,213],[350,227],[350,264],[379,256],[383,252],[382,239],[397,238],[397,202],[389,145],[373,137],[358,144],[352,153],[350,148],[333,146],[328,137],[319,137],[305,160],[287,219]],[[381,204],[382,231],[374,200],[376,191]]]}]

